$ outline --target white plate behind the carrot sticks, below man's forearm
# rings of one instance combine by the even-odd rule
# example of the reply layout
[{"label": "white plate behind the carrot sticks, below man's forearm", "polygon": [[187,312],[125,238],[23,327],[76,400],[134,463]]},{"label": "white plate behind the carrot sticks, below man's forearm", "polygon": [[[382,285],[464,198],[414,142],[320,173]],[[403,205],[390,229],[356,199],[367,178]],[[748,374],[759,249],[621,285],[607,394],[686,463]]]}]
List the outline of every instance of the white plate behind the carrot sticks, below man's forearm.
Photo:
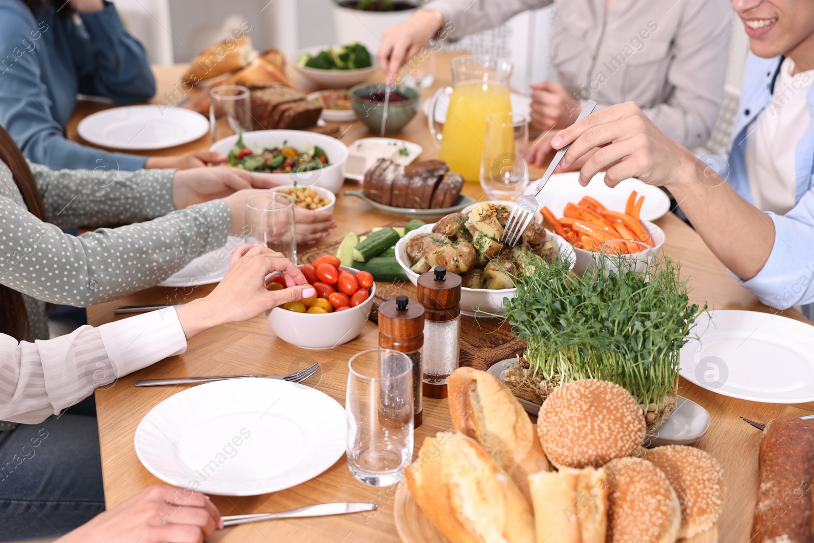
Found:
[{"label": "white plate behind the carrot sticks, below man's forearm", "polygon": [[586,195],[596,198],[611,211],[624,212],[631,190],[636,190],[645,197],[639,218],[655,221],[670,211],[670,198],[658,186],[648,185],[636,177],[628,177],[611,189],[605,184],[605,172],[593,176],[588,186],[580,185],[579,172],[556,173],[549,177],[540,196],[544,198],[545,206],[554,213],[554,217],[562,217],[562,210],[568,202],[576,204]]}]

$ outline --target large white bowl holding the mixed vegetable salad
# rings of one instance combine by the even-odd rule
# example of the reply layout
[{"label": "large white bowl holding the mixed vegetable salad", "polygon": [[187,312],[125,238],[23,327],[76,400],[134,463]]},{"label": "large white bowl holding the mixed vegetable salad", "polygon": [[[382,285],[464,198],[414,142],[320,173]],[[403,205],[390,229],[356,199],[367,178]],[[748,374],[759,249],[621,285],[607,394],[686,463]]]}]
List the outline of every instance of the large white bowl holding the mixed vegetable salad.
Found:
[{"label": "large white bowl holding the mixed vegetable salad", "polygon": [[[238,142],[238,135],[234,134],[228,138],[223,138],[209,147],[210,151],[217,151],[223,155],[229,155],[234,144]],[[317,134],[316,132],[306,132],[305,130],[255,130],[243,133],[243,143],[246,147],[255,151],[260,151],[266,147],[290,145],[300,151],[304,151],[309,145],[322,147],[328,156],[328,163],[322,169],[313,169],[310,172],[300,173],[260,173],[272,179],[276,179],[287,185],[296,182],[299,186],[321,186],[336,192],[342,187],[345,181],[345,163],[348,161],[348,146],[333,136]]]}]

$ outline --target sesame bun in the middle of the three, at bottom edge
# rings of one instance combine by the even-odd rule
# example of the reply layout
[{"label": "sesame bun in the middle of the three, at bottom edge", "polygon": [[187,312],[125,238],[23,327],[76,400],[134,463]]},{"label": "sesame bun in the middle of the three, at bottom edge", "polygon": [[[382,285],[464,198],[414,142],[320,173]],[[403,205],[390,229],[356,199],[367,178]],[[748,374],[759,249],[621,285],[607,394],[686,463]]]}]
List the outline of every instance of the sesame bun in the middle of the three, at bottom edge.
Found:
[{"label": "sesame bun in the middle of the three, at bottom edge", "polygon": [[673,543],[681,505],[667,475],[642,458],[617,458],[608,474],[607,543]]}]

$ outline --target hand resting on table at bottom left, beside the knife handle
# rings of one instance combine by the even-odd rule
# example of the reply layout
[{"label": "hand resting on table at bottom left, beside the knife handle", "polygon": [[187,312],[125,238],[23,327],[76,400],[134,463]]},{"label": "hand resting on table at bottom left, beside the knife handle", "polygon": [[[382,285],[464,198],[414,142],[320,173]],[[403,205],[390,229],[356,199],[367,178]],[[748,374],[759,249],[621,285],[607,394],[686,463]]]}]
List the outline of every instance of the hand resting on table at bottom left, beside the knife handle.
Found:
[{"label": "hand resting on table at bottom left, beside the knife handle", "polygon": [[105,511],[57,543],[201,543],[223,528],[204,494],[151,486]]}]

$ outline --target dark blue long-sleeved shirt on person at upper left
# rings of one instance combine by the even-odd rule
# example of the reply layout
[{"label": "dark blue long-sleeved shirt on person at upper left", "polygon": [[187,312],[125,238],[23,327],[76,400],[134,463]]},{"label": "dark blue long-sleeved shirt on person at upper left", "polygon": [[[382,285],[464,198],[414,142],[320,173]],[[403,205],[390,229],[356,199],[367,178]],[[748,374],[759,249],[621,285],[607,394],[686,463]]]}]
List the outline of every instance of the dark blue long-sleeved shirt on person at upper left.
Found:
[{"label": "dark blue long-sleeved shirt on person at upper left", "polygon": [[35,18],[20,0],[0,0],[0,125],[24,155],[50,169],[144,167],[146,157],[109,153],[65,138],[77,93],[119,103],[155,94],[142,45],[116,7],[66,18],[46,7]]}]

